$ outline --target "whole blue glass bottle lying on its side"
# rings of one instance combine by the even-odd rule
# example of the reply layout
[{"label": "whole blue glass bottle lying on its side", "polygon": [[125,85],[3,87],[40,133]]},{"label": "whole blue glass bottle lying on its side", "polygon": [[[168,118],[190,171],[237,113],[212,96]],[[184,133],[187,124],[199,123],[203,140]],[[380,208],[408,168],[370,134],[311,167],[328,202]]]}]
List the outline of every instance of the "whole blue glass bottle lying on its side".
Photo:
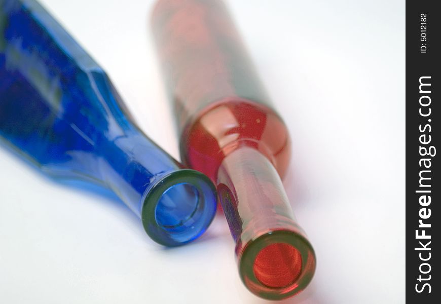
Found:
[{"label": "whole blue glass bottle lying on its side", "polygon": [[55,177],[111,188],[166,246],[200,236],[211,181],[132,122],[106,73],[34,0],[0,0],[0,139]]}]

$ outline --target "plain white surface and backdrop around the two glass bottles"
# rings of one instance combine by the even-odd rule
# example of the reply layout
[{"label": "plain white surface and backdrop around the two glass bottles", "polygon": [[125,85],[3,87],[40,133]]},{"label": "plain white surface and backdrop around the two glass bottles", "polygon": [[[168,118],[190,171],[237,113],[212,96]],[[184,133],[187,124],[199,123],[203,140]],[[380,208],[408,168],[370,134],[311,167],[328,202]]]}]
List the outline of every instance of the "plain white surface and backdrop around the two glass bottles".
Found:
[{"label": "plain white surface and backdrop around the two glass bottles", "polygon": [[[177,158],[152,1],[42,3]],[[229,4],[289,127],[286,191],[317,254],[313,282],[287,302],[404,302],[405,2]],[[192,245],[164,249],[112,195],[54,182],[4,147],[0,187],[1,303],[266,302],[242,285],[223,217]]]}]

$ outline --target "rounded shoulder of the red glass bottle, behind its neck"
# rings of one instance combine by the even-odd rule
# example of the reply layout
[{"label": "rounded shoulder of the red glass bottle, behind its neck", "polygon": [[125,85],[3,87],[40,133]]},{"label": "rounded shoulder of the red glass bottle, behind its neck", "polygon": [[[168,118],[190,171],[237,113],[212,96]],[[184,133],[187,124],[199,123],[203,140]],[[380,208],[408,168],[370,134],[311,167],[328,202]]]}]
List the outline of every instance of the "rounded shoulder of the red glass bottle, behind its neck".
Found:
[{"label": "rounded shoulder of the red glass bottle, behind its neck", "polygon": [[202,110],[182,133],[181,156],[214,179],[225,156],[243,145],[261,151],[284,174],[290,154],[288,130],[273,109],[247,99],[227,99]]}]

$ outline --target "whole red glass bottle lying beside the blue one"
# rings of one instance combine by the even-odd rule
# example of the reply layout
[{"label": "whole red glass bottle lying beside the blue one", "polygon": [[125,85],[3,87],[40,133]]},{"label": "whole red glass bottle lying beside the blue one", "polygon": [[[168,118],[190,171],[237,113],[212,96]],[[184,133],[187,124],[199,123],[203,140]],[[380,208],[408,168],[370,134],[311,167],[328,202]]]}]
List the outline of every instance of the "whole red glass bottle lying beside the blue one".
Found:
[{"label": "whole red glass bottle lying beside the blue one", "polygon": [[300,292],[312,279],[315,255],[281,181],[288,131],[225,4],[160,0],[152,26],[182,161],[216,184],[242,281],[264,298]]}]

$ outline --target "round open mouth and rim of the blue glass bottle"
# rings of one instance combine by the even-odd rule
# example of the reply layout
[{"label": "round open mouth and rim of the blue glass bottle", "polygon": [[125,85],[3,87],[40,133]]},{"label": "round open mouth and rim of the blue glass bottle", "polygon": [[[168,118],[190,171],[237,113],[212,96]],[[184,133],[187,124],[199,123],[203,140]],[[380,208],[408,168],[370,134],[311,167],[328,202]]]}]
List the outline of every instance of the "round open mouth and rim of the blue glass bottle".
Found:
[{"label": "round open mouth and rim of the blue glass bottle", "polygon": [[201,236],[217,209],[215,187],[204,174],[173,171],[144,194],[141,218],[146,233],[164,246],[179,246]]}]

